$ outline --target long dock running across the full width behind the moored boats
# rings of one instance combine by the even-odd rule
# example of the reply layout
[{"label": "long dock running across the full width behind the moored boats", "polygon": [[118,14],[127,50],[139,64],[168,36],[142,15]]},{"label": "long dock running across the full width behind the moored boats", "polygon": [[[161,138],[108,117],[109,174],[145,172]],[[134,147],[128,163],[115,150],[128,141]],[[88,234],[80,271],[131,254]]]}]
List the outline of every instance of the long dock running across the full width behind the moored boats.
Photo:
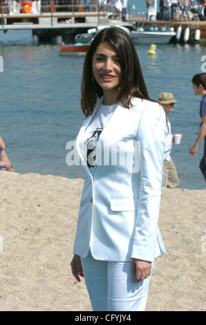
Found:
[{"label": "long dock running across the full width behind the moored boats", "polygon": [[147,21],[146,16],[128,15],[128,21],[111,19],[112,11],[83,11],[75,7],[70,11],[53,11],[41,13],[6,13],[0,12],[0,30],[32,30],[34,41],[49,40],[51,37],[59,37],[59,41],[73,41],[74,36],[80,32],[87,32],[89,28],[97,26],[125,26],[131,27],[144,25],[167,25],[176,31],[182,26],[182,33],[185,28],[190,29],[189,41],[192,43],[196,28],[200,29],[200,43],[206,45],[206,21]]}]

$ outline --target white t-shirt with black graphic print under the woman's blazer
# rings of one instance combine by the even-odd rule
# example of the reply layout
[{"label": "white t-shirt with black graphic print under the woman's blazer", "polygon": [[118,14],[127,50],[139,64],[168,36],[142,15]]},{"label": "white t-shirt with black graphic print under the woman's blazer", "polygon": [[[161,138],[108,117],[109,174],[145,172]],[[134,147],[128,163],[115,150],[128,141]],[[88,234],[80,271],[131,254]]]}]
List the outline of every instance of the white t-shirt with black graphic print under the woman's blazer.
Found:
[{"label": "white t-shirt with black graphic print under the woman's blazer", "polygon": [[101,104],[87,129],[84,131],[83,156],[91,173],[93,173],[93,168],[95,167],[97,142],[100,134],[117,106],[118,104],[111,106]]}]

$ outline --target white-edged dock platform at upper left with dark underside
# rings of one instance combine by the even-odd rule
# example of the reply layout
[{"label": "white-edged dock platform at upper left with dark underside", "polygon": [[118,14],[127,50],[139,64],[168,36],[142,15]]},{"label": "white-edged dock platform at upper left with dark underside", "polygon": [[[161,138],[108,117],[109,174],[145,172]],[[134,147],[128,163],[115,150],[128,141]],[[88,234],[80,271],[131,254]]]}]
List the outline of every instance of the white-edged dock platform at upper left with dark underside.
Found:
[{"label": "white-edged dock platform at upper left with dark underside", "polygon": [[131,22],[109,19],[113,12],[41,12],[41,14],[0,15],[0,31],[32,30],[35,43],[50,41],[57,43],[73,41],[75,35],[97,26],[131,26]]}]

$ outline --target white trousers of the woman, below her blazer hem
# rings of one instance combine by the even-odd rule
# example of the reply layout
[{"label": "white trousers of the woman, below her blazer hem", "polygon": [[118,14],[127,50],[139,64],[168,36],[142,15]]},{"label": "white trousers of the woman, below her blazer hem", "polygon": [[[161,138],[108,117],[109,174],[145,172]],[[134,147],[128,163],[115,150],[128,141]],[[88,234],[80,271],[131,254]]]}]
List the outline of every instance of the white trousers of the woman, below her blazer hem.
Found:
[{"label": "white trousers of the woman, below her blazer hem", "polygon": [[99,261],[90,251],[81,261],[93,311],[144,311],[151,275],[132,282],[131,261]]}]

